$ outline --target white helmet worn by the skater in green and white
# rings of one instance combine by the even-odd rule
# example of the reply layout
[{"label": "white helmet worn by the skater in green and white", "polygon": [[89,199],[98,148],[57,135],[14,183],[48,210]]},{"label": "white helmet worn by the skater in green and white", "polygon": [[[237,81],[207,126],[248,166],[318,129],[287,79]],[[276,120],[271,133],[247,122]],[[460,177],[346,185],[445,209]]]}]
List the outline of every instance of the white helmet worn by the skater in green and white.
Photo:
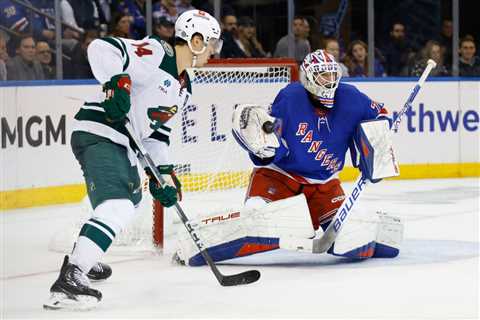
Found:
[{"label": "white helmet worn by the skater in green and white", "polygon": [[[204,47],[200,51],[192,48],[192,37],[199,33],[203,37]],[[202,54],[210,43],[215,53],[220,53],[222,40],[220,39],[220,25],[209,13],[201,10],[189,10],[182,13],[175,22],[175,37],[185,40],[195,55]]]}]

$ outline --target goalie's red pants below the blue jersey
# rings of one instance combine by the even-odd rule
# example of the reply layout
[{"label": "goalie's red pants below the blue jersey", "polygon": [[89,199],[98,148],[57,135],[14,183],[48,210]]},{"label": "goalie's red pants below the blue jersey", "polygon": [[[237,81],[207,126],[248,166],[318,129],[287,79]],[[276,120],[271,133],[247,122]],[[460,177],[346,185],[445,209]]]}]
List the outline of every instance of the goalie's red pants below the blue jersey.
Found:
[{"label": "goalie's red pants below the blue jersey", "polygon": [[307,199],[312,225],[315,230],[326,228],[342,205],[345,194],[340,180],[333,179],[325,184],[302,184],[272,169],[256,168],[250,178],[247,199],[261,197],[276,201],[303,193]]}]

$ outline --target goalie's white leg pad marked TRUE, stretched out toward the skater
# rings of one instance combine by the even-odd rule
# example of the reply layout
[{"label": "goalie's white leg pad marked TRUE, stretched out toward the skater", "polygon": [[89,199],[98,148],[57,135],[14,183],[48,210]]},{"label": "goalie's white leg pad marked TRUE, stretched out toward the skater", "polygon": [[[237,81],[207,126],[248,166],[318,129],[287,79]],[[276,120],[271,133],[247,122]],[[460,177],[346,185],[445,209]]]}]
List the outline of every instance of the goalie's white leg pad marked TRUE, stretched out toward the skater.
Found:
[{"label": "goalie's white leg pad marked TRUE, stretched out toward the skater", "polygon": [[[279,238],[312,238],[305,196],[300,194],[242,209],[202,217],[191,222],[214,261],[222,261],[279,248]],[[189,265],[204,264],[184,228],[178,234],[179,257]]]}]

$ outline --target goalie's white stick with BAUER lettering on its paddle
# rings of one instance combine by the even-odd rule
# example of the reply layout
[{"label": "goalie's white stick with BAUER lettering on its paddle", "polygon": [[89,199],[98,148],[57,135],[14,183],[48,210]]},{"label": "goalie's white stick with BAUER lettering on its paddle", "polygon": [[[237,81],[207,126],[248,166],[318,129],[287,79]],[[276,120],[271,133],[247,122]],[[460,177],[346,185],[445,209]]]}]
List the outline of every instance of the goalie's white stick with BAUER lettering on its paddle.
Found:
[{"label": "goalie's white stick with BAUER lettering on its paddle", "polygon": [[[410,93],[410,96],[405,102],[402,110],[400,110],[400,112],[397,114],[397,116],[393,120],[392,128],[390,130],[394,132],[398,131],[398,126],[400,125],[403,115],[408,111],[408,109],[412,107],[413,100],[415,100],[415,97],[417,96],[418,92],[420,91],[420,88],[423,86],[425,80],[430,74],[430,71],[432,71],[432,69],[435,68],[436,65],[437,64],[435,63],[435,61],[431,59],[428,60],[427,66],[423,71],[422,76],[420,77],[417,84],[415,85],[412,92]],[[332,222],[327,227],[322,237],[320,239],[313,240],[313,247],[312,247],[313,253],[326,252],[332,246],[332,244],[335,242],[335,239],[338,236],[338,233],[342,229],[345,221],[348,219],[348,216],[352,212],[352,208],[355,205],[355,202],[358,201],[358,199],[360,198],[360,195],[365,190],[367,185],[368,185],[367,180],[364,179],[363,176],[360,174],[360,176],[357,178],[357,180],[354,183],[354,188],[352,193],[345,198],[340,208],[338,208],[337,213],[333,217]]]}]

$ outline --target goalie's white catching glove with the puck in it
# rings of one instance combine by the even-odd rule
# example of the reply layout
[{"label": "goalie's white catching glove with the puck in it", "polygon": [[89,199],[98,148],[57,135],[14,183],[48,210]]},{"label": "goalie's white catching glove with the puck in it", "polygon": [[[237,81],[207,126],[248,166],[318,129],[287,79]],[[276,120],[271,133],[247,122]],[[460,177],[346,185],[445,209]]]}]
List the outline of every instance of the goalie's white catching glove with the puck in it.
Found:
[{"label": "goalie's white catching glove with the puck in it", "polygon": [[280,147],[280,119],[270,116],[263,106],[237,105],[232,117],[232,133],[242,148],[266,159]]}]

